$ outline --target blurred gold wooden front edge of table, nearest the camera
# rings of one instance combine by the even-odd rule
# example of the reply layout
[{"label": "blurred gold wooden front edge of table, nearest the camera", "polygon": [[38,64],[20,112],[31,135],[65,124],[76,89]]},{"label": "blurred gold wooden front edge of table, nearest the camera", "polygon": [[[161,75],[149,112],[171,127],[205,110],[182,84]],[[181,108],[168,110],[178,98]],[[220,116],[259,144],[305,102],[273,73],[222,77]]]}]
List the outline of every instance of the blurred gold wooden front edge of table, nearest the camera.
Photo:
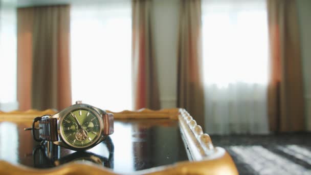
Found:
[{"label": "blurred gold wooden front edge of table, nearest the camera", "polygon": [[[150,169],[136,171],[130,174],[238,174],[235,166],[230,166],[228,162],[232,161],[229,154],[223,149],[218,148],[217,154],[204,161],[184,161],[172,165],[159,166]],[[35,169],[24,165],[13,165],[5,161],[0,161],[0,172],[2,174],[108,174],[116,175],[112,169],[99,166],[93,163],[81,161],[71,162],[59,167],[49,169]]]}]

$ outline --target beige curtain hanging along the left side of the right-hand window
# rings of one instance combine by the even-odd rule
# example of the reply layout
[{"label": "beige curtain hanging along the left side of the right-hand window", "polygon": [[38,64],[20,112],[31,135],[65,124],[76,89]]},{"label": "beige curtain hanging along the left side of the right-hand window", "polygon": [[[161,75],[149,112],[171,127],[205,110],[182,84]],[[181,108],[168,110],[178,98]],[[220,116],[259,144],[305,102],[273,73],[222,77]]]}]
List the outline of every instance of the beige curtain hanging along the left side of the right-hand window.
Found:
[{"label": "beige curtain hanging along the left side of the right-hand window", "polygon": [[177,72],[177,107],[204,126],[201,1],[181,1]]}]

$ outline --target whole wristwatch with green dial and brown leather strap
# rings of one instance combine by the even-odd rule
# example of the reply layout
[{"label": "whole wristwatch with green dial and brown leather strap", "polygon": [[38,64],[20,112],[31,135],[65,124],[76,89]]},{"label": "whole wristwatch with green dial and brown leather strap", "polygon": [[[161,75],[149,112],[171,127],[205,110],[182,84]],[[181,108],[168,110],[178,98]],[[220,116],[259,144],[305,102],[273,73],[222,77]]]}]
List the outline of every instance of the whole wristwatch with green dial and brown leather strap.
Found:
[{"label": "whole wristwatch with green dial and brown leather strap", "polygon": [[[36,122],[39,122],[38,128],[35,128]],[[72,150],[87,150],[114,133],[114,115],[76,101],[53,116],[36,117],[32,127],[25,130],[32,130],[36,141],[51,141]],[[39,130],[38,137],[35,130]]]}]

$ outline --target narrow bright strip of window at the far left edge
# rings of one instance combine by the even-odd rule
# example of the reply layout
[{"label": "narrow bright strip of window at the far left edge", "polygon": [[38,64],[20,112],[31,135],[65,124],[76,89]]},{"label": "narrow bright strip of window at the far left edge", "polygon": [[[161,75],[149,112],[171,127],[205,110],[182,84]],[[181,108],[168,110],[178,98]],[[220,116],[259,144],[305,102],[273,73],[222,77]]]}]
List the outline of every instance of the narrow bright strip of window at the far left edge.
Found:
[{"label": "narrow bright strip of window at the far left edge", "polygon": [[3,7],[0,9],[0,17],[0,111],[12,111],[17,110],[17,33],[15,7],[3,4]]}]

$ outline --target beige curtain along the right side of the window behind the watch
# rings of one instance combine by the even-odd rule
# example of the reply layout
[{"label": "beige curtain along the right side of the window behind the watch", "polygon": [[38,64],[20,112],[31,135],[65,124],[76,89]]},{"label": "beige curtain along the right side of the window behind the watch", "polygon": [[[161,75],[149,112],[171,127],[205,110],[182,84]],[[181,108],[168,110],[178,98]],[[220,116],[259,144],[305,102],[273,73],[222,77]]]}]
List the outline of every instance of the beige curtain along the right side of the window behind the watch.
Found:
[{"label": "beige curtain along the right side of the window behind the watch", "polygon": [[151,1],[132,1],[132,82],[134,108],[159,110],[157,66],[151,38]]}]

